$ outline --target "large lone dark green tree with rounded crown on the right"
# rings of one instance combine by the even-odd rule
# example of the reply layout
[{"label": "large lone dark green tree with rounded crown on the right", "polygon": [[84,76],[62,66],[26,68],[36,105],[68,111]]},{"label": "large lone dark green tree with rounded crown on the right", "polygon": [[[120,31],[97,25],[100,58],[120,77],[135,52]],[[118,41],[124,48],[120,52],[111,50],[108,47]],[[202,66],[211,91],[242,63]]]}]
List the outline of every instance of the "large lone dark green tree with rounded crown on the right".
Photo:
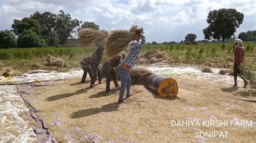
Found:
[{"label": "large lone dark green tree with rounded crown on the right", "polygon": [[225,39],[231,38],[236,29],[242,24],[244,14],[235,9],[219,9],[208,13],[207,28],[203,30],[205,39]]}]

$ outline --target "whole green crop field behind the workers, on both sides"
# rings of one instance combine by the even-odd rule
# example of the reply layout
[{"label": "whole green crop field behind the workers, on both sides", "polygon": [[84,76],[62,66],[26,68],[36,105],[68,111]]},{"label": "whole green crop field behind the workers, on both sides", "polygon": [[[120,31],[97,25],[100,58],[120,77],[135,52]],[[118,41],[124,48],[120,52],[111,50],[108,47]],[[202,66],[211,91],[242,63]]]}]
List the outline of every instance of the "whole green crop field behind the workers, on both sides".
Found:
[{"label": "whole green crop field behind the workers, on both sides", "polygon": [[[232,68],[232,62],[224,58],[233,57],[233,43],[217,43],[203,45],[145,45],[142,54],[151,49],[159,49],[170,55],[170,58],[176,63],[185,63],[190,65],[206,65],[220,68]],[[247,65],[256,67],[256,42],[246,42]],[[0,49],[0,67],[11,67],[19,71],[33,70],[33,64],[44,64],[46,55],[58,56],[63,58],[69,65],[69,68],[80,67],[80,60],[90,55],[95,47],[47,47],[47,48],[12,48]],[[56,69],[53,69],[56,70]],[[67,69],[57,69],[65,71]]]}]

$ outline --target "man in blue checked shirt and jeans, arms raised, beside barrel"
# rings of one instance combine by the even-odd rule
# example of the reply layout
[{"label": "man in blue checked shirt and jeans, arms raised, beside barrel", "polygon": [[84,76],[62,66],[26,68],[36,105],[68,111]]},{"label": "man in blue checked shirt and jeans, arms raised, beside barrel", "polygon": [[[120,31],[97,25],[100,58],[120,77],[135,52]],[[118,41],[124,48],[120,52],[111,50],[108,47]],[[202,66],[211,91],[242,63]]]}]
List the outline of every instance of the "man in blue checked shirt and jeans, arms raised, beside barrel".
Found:
[{"label": "man in blue checked shirt and jeans, arms raised, beside barrel", "polygon": [[134,45],[130,47],[130,52],[126,56],[126,58],[122,61],[120,66],[118,67],[118,73],[121,78],[121,87],[119,92],[119,103],[124,103],[124,92],[126,89],[126,98],[131,96],[131,77],[130,71],[133,69],[135,65],[135,61],[138,59],[139,53],[142,50],[142,47],[146,44],[146,39],[142,33],[140,33],[140,39],[142,40],[140,43],[136,42]]}]

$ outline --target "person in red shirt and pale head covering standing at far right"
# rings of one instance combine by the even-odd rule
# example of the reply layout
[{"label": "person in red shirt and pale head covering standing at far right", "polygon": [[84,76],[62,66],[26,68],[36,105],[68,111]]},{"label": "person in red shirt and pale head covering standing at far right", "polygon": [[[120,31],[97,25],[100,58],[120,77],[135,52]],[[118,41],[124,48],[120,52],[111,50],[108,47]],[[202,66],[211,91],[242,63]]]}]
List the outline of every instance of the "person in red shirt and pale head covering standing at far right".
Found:
[{"label": "person in red shirt and pale head covering standing at far right", "polygon": [[233,46],[234,49],[234,87],[237,87],[237,76],[244,80],[244,88],[247,86],[248,81],[245,80],[244,77],[241,76],[241,64],[244,62],[245,59],[245,47],[242,46],[241,39],[235,39],[235,45]]}]

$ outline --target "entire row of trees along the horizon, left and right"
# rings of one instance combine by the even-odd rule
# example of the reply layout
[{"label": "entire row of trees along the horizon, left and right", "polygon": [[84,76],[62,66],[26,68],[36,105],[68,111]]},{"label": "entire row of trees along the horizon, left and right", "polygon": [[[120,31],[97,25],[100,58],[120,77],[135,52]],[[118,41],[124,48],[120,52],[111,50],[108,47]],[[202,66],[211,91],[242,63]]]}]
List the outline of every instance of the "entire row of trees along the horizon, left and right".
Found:
[{"label": "entire row of trees along the horizon, left and right", "polygon": [[[208,26],[203,29],[202,42],[219,39],[225,42],[234,36],[236,29],[242,24],[244,14],[235,9],[219,9],[208,13],[206,22]],[[80,28],[90,27],[99,30],[99,25],[93,22],[82,22],[72,19],[69,13],[60,10],[59,13],[35,12],[30,17],[14,20],[12,30],[0,31],[0,48],[9,47],[45,47],[64,44],[65,40],[72,38]],[[15,35],[14,35],[15,34]],[[16,38],[17,37],[17,38]],[[193,42],[196,34],[190,33],[180,42]],[[256,40],[256,31],[241,32],[238,38],[244,41]],[[174,43],[165,42],[165,44]],[[152,44],[156,44],[155,41]]]}]

